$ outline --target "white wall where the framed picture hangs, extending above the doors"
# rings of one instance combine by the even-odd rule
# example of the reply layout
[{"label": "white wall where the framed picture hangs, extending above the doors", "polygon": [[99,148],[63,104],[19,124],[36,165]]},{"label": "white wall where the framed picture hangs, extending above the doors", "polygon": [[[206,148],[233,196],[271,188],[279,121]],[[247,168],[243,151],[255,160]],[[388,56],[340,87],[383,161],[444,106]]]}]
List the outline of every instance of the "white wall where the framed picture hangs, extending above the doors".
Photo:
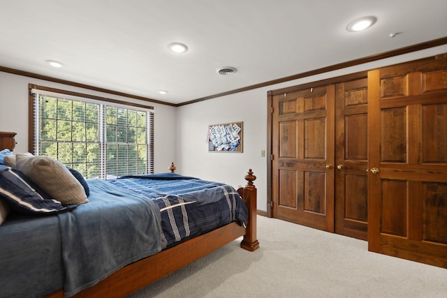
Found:
[{"label": "white wall where the framed picture hangs, extending above the doors", "polygon": [[[251,168],[257,177],[254,184],[258,188],[258,209],[267,211],[267,163],[269,161],[267,157],[261,157],[261,150],[267,149],[267,92],[269,90],[316,82],[446,52],[447,45],[433,47],[399,57],[180,106],[177,110],[177,172],[212,181],[225,181],[237,188],[245,184],[244,174]],[[208,125],[233,121],[244,122],[244,152],[208,152],[205,143]]]}]

